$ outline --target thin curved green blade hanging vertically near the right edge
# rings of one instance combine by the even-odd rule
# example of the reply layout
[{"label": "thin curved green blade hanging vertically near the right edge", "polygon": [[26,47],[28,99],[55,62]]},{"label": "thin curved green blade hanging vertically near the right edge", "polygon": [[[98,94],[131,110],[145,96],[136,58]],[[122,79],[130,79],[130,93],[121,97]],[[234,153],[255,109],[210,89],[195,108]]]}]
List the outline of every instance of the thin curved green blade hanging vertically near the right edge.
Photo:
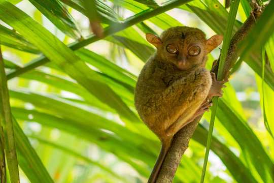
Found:
[{"label": "thin curved green blade hanging vertically near the right edge", "polygon": [[270,130],[267,118],[266,118],[266,114],[265,114],[265,105],[264,105],[264,65],[265,65],[265,47],[263,47],[262,49],[262,111],[263,111],[263,122],[264,122],[264,127],[267,130],[267,132],[269,133],[269,135],[274,139],[273,134]]}]

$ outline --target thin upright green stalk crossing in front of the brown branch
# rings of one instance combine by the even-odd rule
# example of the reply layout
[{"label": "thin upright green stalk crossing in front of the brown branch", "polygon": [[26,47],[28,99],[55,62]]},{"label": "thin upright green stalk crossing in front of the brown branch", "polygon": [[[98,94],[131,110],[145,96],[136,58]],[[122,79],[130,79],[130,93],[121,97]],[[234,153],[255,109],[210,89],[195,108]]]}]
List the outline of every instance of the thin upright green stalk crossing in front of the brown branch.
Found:
[{"label": "thin upright green stalk crossing in front of the brown branch", "polygon": [[[226,61],[226,57],[227,57],[227,53],[228,53],[228,48],[229,48],[229,43],[230,43],[232,31],[233,31],[235,18],[236,18],[237,11],[238,11],[238,6],[239,6],[239,0],[235,0],[234,2],[231,3],[231,8],[230,8],[229,15],[228,15],[228,21],[226,24],[224,42],[223,42],[223,47],[222,47],[222,52],[221,52],[221,57],[220,57],[220,64],[219,64],[219,68],[218,68],[218,74],[217,74],[218,81],[223,80],[223,78],[222,78],[223,70],[224,70],[224,66],[225,66],[225,61]],[[201,183],[204,180],[205,170],[207,169],[207,163],[208,163],[208,158],[209,158],[209,151],[210,151],[210,146],[211,146],[211,139],[212,139],[215,115],[216,115],[217,104],[218,104],[218,97],[215,96],[212,101],[213,101],[213,107],[212,107],[212,113],[211,113],[211,119],[210,119],[207,148],[205,150],[205,156],[204,156],[203,167],[202,167],[202,174],[201,174],[201,181],[200,181]]]}]

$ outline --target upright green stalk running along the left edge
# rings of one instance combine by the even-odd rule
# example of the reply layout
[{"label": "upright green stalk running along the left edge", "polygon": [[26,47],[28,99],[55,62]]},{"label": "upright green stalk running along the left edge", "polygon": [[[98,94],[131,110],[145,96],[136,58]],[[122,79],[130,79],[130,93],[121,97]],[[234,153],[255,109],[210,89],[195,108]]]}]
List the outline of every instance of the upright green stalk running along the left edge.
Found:
[{"label": "upright green stalk running along the left edge", "polygon": [[[19,169],[14,140],[9,90],[7,86],[7,76],[4,68],[4,60],[0,46],[0,120],[1,122],[4,122],[2,123],[3,126],[1,127],[4,128],[5,133],[5,149],[11,183],[19,183]],[[2,128],[0,130],[2,130]]]}]

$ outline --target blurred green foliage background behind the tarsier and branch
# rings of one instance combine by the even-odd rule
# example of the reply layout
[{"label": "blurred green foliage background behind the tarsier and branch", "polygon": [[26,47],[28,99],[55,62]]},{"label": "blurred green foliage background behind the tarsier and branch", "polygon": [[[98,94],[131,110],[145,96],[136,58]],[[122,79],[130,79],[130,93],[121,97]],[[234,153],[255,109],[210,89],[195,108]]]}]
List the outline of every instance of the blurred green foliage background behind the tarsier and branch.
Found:
[{"label": "blurred green foliage background behind the tarsier and branch", "polygon": [[[233,34],[251,10],[241,0]],[[217,0],[0,0],[20,181],[146,182],[160,142],[133,102],[138,74],[155,52],[145,34],[186,25],[207,38],[223,35],[228,12]],[[90,29],[97,20],[102,38]],[[264,28],[254,27],[262,37],[254,39],[265,45],[265,67],[262,47],[255,47],[233,68],[218,103],[205,182],[274,182],[274,12],[263,20]],[[209,55],[208,69],[219,54]],[[206,112],[174,182],[199,182],[209,120]]]}]

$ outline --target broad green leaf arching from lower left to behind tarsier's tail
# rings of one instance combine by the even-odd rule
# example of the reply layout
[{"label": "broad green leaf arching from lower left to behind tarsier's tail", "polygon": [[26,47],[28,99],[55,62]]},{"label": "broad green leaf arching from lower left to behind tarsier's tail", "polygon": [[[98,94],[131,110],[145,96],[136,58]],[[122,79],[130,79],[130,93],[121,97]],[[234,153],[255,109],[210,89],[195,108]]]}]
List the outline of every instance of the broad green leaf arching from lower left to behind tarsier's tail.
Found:
[{"label": "broad green leaf arching from lower left to behind tarsier's tail", "polygon": [[[144,176],[149,176],[147,165],[144,166],[145,164],[141,162],[134,163],[132,162],[132,158],[140,159],[151,166],[154,165],[156,153],[155,155],[151,154],[151,149],[146,149],[144,145],[146,144],[145,142],[147,142],[151,145],[152,149],[157,151],[156,147],[159,147],[160,144],[155,143],[155,141],[144,141],[142,140],[143,137],[136,137],[134,134],[129,132],[126,134],[111,134],[101,131],[100,129],[93,127],[93,122],[95,122],[94,120],[92,120],[92,123],[90,123],[90,121],[83,121],[86,123],[86,125],[84,125],[78,118],[78,116],[81,116],[82,114],[78,114],[78,116],[71,116],[75,120],[70,120],[67,118],[62,119],[60,117],[35,110],[26,110],[22,108],[12,108],[12,110],[17,118],[28,121],[36,121],[42,125],[57,128],[59,130],[74,134],[80,138],[84,138],[92,143],[96,143],[99,147],[115,154],[115,156],[119,159],[129,163],[135,170]],[[28,118],[29,114],[33,116],[33,119]],[[121,138],[119,137],[120,135],[126,135],[127,138]],[[138,145],[132,145],[132,143],[136,143]]]}]

